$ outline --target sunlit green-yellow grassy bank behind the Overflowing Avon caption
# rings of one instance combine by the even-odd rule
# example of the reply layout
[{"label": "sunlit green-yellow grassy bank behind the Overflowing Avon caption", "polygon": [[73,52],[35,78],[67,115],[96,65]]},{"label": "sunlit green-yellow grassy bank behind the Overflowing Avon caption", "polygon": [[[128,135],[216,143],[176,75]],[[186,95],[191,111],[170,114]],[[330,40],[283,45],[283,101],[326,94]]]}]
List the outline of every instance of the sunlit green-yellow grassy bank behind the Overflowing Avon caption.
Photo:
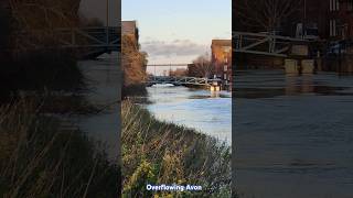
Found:
[{"label": "sunlit green-yellow grassy bank behind the Overflowing Avon caption", "polygon": [[156,120],[124,101],[122,179],[125,197],[149,197],[147,184],[201,185],[200,193],[158,193],[157,197],[229,197],[231,147],[194,130]]}]

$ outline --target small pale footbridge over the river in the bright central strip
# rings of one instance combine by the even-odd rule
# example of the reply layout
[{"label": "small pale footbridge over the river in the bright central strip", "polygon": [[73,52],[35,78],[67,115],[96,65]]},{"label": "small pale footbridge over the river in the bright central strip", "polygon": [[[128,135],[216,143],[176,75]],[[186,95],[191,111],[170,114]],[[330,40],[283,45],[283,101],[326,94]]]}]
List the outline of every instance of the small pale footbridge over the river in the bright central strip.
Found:
[{"label": "small pale footbridge over the river in the bright central strip", "polygon": [[196,77],[173,77],[173,76],[150,76],[147,80],[148,86],[156,84],[172,84],[174,86],[206,86],[220,85],[221,79],[196,78]]}]

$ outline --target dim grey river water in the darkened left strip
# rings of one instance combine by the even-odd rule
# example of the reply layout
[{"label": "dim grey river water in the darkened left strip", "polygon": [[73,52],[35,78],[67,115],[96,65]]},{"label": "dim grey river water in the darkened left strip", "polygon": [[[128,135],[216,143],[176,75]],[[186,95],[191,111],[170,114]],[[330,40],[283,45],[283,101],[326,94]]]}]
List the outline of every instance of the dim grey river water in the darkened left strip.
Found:
[{"label": "dim grey river water in the darkened left strip", "polygon": [[97,114],[81,116],[79,128],[104,145],[108,157],[116,162],[120,145],[120,90],[121,72],[118,54],[101,56],[96,61],[79,62],[89,91],[86,99],[101,108]]}]

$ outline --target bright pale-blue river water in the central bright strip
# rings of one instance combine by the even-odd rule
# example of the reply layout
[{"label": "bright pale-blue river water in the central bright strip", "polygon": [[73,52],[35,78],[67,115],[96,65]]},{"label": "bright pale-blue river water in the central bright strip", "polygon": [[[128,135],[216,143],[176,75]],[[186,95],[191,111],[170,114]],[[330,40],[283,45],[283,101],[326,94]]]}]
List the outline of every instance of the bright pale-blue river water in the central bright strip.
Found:
[{"label": "bright pale-blue river water in the central bright strip", "polygon": [[154,85],[147,89],[151,101],[147,109],[157,119],[193,128],[231,145],[231,92],[211,92],[172,85]]}]

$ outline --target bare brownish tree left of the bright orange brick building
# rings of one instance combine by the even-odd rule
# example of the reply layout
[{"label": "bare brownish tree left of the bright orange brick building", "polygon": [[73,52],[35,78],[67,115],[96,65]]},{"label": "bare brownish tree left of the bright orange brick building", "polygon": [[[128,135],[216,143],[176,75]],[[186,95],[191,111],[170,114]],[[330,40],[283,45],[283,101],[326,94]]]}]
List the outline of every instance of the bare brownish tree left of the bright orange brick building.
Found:
[{"label": "bare brownish tree left of the bright orange brick building", "polygon": [[207,54],[199,56],[193,64],[188,67],[189,76],[210,78],[215,74],[215,68]]}]

